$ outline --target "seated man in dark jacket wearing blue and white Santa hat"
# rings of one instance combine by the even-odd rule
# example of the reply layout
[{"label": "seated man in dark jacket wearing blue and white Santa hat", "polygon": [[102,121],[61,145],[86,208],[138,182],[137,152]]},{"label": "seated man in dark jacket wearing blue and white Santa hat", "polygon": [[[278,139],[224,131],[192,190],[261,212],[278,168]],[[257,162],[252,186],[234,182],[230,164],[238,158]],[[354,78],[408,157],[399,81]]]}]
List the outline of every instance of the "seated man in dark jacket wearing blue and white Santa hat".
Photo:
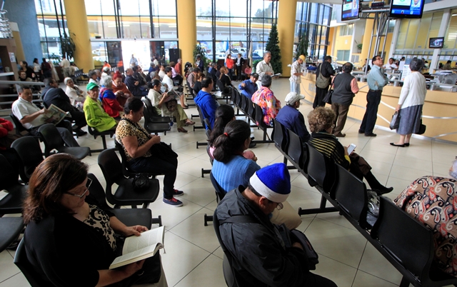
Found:
[{"label": "seated man in dark jacket wearing blue and white Santa hat", "polygon": [[[278,226],[269,220],[290,192],[286,165],[273,163],[256,171],[247,188],[240,186],[227,193],[216,208],[221,239],[233,258],[231,268],[238,286],[336,287],[333,281],[311,273],[301,243],[284,241]],[[250,221],[231,223],[237,218]]]}]

